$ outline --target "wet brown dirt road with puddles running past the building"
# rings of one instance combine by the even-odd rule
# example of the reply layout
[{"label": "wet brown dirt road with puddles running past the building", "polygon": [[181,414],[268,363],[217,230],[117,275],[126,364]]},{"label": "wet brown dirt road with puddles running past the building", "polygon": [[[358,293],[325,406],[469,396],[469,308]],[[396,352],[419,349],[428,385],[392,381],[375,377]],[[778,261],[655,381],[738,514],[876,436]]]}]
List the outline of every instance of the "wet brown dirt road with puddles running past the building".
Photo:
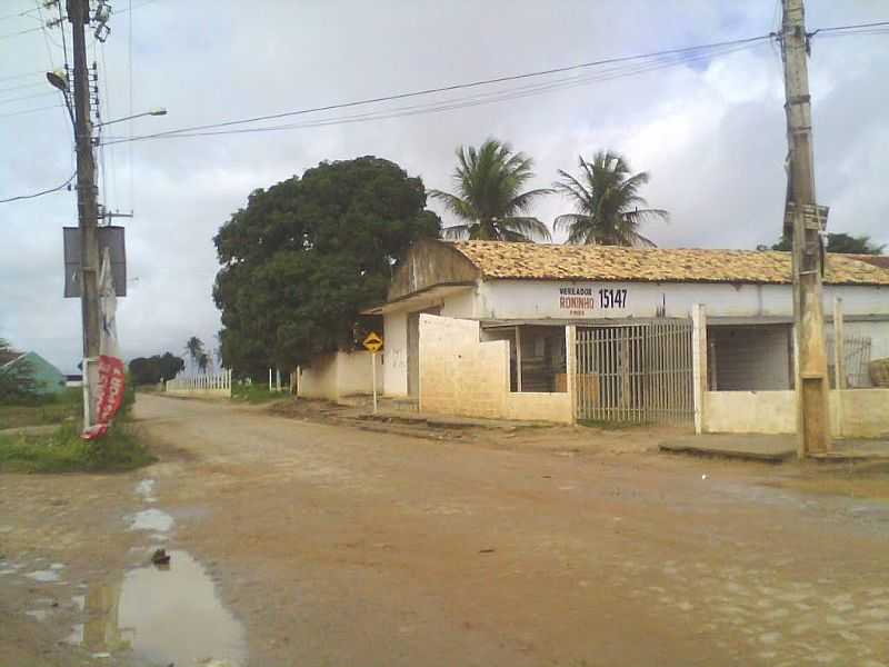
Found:
[{"label": "wet brown dirt road with puddles running past the building", "polygon": [[0,665],[889,666],[889,505],[792,468],[137,416],[149,469],[0,476]]}]

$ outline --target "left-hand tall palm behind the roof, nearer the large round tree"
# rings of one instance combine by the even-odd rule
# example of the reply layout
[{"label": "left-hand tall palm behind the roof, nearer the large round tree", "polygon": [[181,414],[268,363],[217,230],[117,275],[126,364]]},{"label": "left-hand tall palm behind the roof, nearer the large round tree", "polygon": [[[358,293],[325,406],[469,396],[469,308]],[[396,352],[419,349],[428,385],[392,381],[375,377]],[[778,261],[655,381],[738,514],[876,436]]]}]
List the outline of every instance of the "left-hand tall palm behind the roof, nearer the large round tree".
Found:
[{"label": "left-hand tall palm behind the roof, nearer the large round tree", "polygon": [[512,152],[509,143],[488,139],[480,148],[461,146],[457,149],[453,182],[457,193],[430,190],[463,220],[444,229],[448,238],[470,238],[500,241],[549,240],[547,226],[528,216],[535,199],[552,192],[538,188],[522,192],[533,179],[533,161],[521,152]]}]

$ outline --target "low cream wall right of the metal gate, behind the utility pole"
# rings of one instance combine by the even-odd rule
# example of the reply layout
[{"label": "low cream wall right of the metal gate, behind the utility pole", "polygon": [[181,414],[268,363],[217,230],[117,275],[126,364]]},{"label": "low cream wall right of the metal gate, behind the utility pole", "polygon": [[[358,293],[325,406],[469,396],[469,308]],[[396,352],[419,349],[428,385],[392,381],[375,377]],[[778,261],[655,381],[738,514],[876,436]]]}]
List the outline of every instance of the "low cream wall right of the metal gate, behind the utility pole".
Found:
[{"label": "low cream wall right of the metal gate, behind the utility pole", "polygon": [[[711,434],[793,434],[793,391],[708,391],[703,431]],[[830,392],[833,437],[875,438],[889,435],[889,389]]]}]

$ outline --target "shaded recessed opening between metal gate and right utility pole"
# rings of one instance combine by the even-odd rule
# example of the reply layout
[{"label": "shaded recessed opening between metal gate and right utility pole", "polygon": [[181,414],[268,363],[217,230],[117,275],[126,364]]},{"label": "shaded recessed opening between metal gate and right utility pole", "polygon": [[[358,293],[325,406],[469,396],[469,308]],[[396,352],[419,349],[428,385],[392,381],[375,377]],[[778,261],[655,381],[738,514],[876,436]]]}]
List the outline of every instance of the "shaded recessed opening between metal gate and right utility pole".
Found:
[{"label": "shaded recessed opening between metal gate and right utility pole", "polygon": [[710,389],[790,389],[790,327],[710,327]]}]

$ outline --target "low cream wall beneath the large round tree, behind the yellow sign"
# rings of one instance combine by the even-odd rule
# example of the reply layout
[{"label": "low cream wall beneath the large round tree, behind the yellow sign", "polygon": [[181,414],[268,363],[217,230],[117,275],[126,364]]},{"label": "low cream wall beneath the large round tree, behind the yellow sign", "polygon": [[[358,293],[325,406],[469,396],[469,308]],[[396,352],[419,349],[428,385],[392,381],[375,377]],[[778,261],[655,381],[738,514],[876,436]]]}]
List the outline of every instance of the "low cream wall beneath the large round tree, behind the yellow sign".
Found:
[{"label": "low cream wall beneath the large round tree, behind the yellow sign", "polygon": [[[373,394],[373,369],[370,352],[336,352],[316,359],[300,369],[301,398],[339,400],[346,396]],[[377,391],[382,392],[382,354],[377,355]]]}]

